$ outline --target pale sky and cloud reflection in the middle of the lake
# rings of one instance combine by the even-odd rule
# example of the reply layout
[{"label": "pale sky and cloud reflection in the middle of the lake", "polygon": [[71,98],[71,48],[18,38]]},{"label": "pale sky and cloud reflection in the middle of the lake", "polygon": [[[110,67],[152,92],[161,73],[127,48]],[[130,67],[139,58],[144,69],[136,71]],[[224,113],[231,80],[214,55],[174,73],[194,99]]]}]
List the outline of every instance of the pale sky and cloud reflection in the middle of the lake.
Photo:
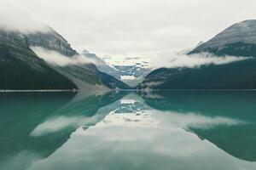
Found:
[{"label": "pale sky and cloud reflection in the middle of the lake", "polygon": [[101,122],[86,130],[80,127],[59,150],[34,162],[29,169],[236,170],[256,167],[256,162],[230,156],[187,131],[189,127],[238,126],[246,122],[222,116],[155,111],[134,95],[109,108],[112,111]]}]

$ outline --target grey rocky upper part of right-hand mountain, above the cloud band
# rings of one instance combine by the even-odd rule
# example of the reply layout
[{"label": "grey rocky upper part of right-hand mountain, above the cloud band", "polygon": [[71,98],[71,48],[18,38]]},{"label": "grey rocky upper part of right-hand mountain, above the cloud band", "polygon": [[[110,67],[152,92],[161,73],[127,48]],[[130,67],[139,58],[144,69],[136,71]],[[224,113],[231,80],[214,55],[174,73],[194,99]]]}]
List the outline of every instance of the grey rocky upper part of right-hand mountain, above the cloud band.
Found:
[{"label": "grey rocky upper part of right-hand mountain, above the cloud band", "polygon": [[256,20],[245,20],[230,26],[189,54],[203,52],[219,56],[256,56]]}]

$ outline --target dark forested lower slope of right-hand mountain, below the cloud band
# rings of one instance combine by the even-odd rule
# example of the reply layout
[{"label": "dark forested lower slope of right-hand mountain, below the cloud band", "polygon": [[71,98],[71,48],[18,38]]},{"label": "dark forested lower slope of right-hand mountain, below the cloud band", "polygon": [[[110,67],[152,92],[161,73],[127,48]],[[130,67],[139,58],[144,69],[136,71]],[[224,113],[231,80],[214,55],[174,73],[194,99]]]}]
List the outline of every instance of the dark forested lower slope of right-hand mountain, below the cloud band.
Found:
[{"label": "dark forested lower slope of right-hand mountain, below the cloud band", "polygon": [[152,71],[138,88],[152,89],[255,89],[256,59],[200,68],[160,68]]}]

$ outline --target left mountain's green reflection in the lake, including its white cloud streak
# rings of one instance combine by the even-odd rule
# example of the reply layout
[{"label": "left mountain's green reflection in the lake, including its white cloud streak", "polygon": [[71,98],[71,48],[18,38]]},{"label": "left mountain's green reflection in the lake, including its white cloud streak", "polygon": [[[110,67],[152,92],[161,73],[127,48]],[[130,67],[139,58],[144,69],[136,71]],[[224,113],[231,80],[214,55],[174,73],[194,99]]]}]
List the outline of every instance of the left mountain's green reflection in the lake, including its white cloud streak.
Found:
[{"label": "left mountain's green reflection in the lake, including its white cloud streak", "polygon": [[61,147],[82,125],[93,125],[104,105],[125,93],[0,94],[0,167],[26,169]]}]

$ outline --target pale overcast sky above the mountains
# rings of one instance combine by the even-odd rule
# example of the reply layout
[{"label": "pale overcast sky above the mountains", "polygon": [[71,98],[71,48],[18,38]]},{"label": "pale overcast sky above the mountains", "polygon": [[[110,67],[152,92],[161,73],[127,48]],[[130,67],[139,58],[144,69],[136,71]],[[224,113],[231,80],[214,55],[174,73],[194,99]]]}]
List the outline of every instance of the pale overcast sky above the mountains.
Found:
[{"label": "pale overcast sky above the mountains", "polygon": [[[1,22],[43,22],[73,48],[109,56],[161,56],[194,47],[241,20],[255,0],[0,0]],[[8,2],[8,3],[7,3]]]}]

